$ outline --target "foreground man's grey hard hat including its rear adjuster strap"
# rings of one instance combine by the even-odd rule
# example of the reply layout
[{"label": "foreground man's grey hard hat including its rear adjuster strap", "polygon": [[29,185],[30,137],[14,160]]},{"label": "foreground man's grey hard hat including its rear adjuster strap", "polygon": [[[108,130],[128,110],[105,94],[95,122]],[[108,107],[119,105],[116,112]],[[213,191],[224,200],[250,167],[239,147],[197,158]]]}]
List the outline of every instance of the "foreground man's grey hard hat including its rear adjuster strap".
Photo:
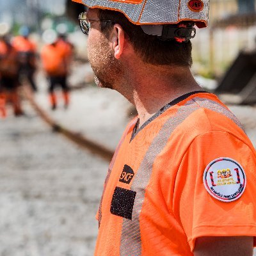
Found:
[{"label": "foreground man's grey hard hat including its rear adjuster strap", "polygon": [[122,12],[148,35],[184,42],[208,25],[209,0],[72,0],[89,8]]}]

